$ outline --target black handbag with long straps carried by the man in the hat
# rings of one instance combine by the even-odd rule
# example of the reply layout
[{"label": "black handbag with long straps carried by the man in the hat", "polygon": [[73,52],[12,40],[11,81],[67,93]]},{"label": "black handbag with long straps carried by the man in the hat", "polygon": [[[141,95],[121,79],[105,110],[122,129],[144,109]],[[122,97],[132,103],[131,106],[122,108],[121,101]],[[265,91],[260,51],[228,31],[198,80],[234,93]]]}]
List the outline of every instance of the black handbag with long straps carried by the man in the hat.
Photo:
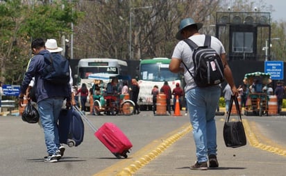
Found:
[{"label": "black handbag with long straps carried by the man in the hat", "polygon": [[[229,122],[230,112],[233,105],[233,101],[235,101],[235,108],[238,114],[238,121]],[[242,124],[242,115],[239,110],[239,104],[237,97],[231,96],[228,113],[226,115],[226,120],[224,122],[224,143],[226,143],[226,147],[241,147],[246,145],[246,136],[244,131],[244,126]]]}]

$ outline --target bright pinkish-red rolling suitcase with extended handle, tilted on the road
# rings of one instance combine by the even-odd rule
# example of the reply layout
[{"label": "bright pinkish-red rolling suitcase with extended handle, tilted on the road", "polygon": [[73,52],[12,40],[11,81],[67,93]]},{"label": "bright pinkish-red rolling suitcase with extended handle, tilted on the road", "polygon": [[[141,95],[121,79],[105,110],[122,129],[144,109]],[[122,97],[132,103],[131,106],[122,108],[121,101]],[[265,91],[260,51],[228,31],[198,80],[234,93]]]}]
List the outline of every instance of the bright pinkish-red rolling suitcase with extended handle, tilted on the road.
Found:
[{"label": "bright pinkish-red rolling suitcase with extended handle, tilted on the road", "polygon": [[112,122],[104,123],[99,129],[96,129],[90,120],[78,109],[76,109],[81,114],[81,118],[87,122],[87,125],[94,130],[94,136],[101,141],[112,154],[117,158],[127,158],[127,153],[131,147],[133,147],[131,141],[126,137],[126,135]]}]

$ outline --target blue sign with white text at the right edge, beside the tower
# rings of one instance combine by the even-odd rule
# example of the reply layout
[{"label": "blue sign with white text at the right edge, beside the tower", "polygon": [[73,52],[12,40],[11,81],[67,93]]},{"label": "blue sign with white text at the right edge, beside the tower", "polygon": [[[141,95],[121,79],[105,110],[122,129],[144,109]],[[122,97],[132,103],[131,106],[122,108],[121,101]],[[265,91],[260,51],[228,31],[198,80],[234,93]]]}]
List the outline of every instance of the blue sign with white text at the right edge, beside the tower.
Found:
[{"label": "blue sign with white text at the right edge, beside the tower", "polygon": [[271,74],[271,79],[283,80],[284,70],[283,61],[265,61],[264,72]]}]

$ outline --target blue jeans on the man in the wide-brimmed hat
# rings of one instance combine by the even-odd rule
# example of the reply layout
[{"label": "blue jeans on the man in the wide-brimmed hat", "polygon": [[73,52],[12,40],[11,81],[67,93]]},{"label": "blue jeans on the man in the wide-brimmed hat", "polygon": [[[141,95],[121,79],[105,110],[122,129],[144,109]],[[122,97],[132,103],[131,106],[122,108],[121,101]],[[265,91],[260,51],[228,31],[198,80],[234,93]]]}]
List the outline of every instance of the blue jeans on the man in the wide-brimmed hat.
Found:
[{"label": "blue jeans on the man in the wide-brimmed hat", "polygon": [[220,95],[219,86],[196,87],[187,91],[185,95],[199,163],[208,161],[210,154],[217,155],[217,128],[214,116]]}]

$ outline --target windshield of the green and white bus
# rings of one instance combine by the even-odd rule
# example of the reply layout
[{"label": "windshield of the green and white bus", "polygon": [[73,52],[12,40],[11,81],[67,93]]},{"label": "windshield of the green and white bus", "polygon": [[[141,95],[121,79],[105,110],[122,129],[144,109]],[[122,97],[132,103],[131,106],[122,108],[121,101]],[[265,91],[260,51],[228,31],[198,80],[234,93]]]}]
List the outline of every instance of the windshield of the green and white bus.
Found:
[{"label": "windshield of the green and white bus", "polygon": [[144,81],[173,81],[178,78],[178,74],[169,71],[169,64],[146,63],[141,65],[141,79]]}]

